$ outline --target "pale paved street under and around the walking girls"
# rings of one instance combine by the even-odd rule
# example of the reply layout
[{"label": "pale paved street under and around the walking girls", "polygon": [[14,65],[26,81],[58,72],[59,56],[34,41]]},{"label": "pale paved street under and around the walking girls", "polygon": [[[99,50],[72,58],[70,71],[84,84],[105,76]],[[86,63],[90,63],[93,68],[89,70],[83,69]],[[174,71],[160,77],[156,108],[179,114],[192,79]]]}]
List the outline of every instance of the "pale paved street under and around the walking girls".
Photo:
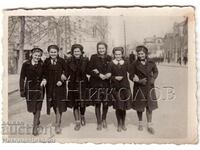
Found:
[{"label": "pale paved street under and around the walking girls", "polygon": [[[73,130],[74,118],[72,110],[68,109],[63,114],[62,134],[55,135],[66,139],[101,139],[101,138],[129,138],[134,141],[136,138],[181,138],[186,135],[187,128],[187,67],[159,66],[159,77],[156,80],[156,86],[160,89],[159,109],[153,113],[153,122],[155,135],[150,135],[145,130],[137,130],[137,116],[134,110],[127,111],[127,131],[118,133],[116,131],[115,112],[110,107],[107,116],[108,128],[102,131],[96,130],[96,118],[93,107],[88,107],[86,111],[87,125],[82,127],[79,132]],[[176,98],[174,100],[166,99],[166,87],[173,87]],[[170,96],[169,96],[170,97]],[[24,122],[32,124],[32,114],[26,110],[26,102],[19,97],[19,92],[9,94],[8,100],[9,122]],[[52,111],[53,112],[53,111]],[[47,127],[54,124],[54,114],[46,115],[46,103],[43,103],[41,114],[41,126]],[[146,119],[144,114],[144,125]],[[54,134],[54,130],[53,130]],[[13,135],[11,137],[16,137]],[[17,137],[29,137],[32,135],[17,135]],[[48,134],[41,134],[40,137],[49,137]]]}]

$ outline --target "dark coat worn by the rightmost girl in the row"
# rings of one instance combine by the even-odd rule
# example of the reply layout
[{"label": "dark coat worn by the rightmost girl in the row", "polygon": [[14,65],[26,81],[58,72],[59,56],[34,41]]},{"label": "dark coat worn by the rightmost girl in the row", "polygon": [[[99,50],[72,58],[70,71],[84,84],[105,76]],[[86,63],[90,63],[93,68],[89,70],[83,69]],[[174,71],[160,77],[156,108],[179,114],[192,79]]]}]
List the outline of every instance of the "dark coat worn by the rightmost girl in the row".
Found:
[{"label": "dark coat worn by the rightmost girl in the row", "polygon": [[144,111],[145,107],[154,110],[158,107],[154,81],[158,76],[158,69],[154,61],[147,59],[145,65],[139,60],[130,66],[130,80],[133,81],[134,75],[139,79],[146,78],[146,85],[134,82],[133,87],[133,109]]}]

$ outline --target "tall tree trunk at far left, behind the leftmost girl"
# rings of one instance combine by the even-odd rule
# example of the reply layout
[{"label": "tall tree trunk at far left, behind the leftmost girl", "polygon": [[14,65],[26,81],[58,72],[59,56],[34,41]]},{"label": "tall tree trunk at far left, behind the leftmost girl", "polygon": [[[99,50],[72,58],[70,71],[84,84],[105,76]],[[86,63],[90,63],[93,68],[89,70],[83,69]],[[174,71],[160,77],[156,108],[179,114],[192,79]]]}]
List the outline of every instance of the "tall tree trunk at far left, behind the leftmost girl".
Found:
[{"label": "tall tree trunk at far left, behind the leftmost girl", "polygon": [[20,35],[19,35],[19,59],[18,59],[18,73],[21,71],[24,59],[24,36],[25,36],[25,16],[20,16]]}]

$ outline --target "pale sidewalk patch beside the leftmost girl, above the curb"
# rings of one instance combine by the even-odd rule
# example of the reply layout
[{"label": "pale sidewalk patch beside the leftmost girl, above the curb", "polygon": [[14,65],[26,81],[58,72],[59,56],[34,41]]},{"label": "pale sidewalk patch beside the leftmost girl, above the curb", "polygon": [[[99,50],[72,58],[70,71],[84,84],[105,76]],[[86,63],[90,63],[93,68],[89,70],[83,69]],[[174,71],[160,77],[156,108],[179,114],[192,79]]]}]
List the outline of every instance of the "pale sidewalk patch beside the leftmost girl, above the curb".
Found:
[{"label": "pale sidewalk patch beside the leftmost girl, above the curb", "polygon": [[8,94],[19,90],[19,74],[8,75]]}]

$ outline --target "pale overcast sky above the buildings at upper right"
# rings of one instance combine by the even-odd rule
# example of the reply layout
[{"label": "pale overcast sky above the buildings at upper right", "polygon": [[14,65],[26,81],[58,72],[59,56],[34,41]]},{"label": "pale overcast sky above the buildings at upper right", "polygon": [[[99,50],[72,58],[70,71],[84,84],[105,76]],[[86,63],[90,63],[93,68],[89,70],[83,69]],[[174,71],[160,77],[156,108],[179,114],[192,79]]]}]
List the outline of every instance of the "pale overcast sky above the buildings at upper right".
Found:
[{"label": "pale overcast sky above the buildings at upper right", "polygon": [[133,16],[133,17],[109,17],[109,29],[114,46],[123,45],[124,28],[126,26],[127,44],[134,42],[143,43],[144,38],[153,35],[164,37],[166,33],[173,31],[174,22],[182,22],[183,16]]}]

